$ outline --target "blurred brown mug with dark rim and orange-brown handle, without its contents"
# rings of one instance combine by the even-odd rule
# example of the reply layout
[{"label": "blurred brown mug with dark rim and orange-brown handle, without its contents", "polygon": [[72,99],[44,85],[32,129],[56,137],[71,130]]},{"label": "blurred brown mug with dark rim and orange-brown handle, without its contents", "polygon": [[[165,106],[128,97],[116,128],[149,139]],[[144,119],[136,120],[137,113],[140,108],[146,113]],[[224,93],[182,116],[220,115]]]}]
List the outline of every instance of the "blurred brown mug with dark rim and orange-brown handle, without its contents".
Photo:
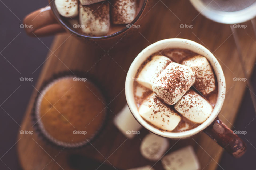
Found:
[{"label": "blurred brown mug with dark rim and orange-brown handle, without its contents", "polygon": [[[148,13],[152,5],[151,2],[152,0],[139,1],[140,10],[138,12],[138,15],[130,23],[130,25],[140,25],[140,27],[142,27],[147,23],[146,14]],[[49,0],[49,6],[45,8],[41,8],[39,10],[36,10],[28,14],[25,17],[23,23],[24,25],[33,25],[32,28],[24,27],[26,33],[29,36],[33,36],[33,37],[48,36],[48,35],[54,35],[56,33],[70,32],[84,40],[90,40],[90,41],[100,41],[100,40],[110,40],[110,39],[119,40],[123,35],[125,34],[129,35],[129,34],[132,34],[133,32],[138,32],[138,29],[141,29],[136,27],[124,26],[122,30],[115,32],[111,35],[106,35],[106,36],[85,35],[77,32],[74,28],[68,25],[65,18],[58,13],[53,0]]]}]

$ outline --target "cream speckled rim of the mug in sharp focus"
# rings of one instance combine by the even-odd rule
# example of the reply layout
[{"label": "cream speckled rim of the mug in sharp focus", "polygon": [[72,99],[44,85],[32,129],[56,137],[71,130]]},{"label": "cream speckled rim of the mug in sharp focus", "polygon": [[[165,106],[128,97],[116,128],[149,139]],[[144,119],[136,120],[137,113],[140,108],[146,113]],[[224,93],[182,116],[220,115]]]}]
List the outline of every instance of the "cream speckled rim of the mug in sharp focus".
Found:
[{"label": "cream speckled rim of the mug in sharp focus", "polygon": [[[164,48],[159,48],[160,46],[165,46]],[[182,47],[181,47],[182,46]],[[213,112],[211,115],[207,118],[205,122],[203,122],[201,125],[197,126],[196,128],[182,131],[182,132],[166,132],[166,131],[160,131],[159,129],[151,126],[148,124],[138,113],[138,109],[135,104],[134,100],[134,93],[133,93],[133,84],[135,78],[135,75],[137,73],[137,70],[139,66],[153,53],[157,52],[157,48],[159,50],[165,49],[165,48],[182,48],[182,49],[188,49],[193,52],[196,52],[198,54],[201,54],[202,56],[205,56],[207,60],[210,62],[211,66],[213,67],[213,70],[215,72],[217,82],[218,82],[218,96],[217,101],[214,106]],[[126,101],[128,104],[128,107],[130,108],[131,113],[133,114],[134,118],[147,130],[151,131],[154,134],[167,137],[167,138],[173,138],[173,139],[181,139],[181,138],[187,138],[191,137],[202,130],[204,130],[206,127],[212,124],[212,122],[215,120],[215,118],[218,116],[224,99],[225,99],[225,91],[226,91],[226,83],[225,83],[225,77],[223,70],[221,68],[221,65],[219,64],[216,57],[204,46],[202,46],[199,43],[196,43],[195,41],[188,40],[188,39],[182,39],[182,38],[170,38],[170,39],[164,39],[157,41],[149,46],[147,46],[145,49],[143,49],[137,57],[134,59],[134,61],[131,63],[130,68],[127,72],[126,81],[125,81],[125,96]]]}]

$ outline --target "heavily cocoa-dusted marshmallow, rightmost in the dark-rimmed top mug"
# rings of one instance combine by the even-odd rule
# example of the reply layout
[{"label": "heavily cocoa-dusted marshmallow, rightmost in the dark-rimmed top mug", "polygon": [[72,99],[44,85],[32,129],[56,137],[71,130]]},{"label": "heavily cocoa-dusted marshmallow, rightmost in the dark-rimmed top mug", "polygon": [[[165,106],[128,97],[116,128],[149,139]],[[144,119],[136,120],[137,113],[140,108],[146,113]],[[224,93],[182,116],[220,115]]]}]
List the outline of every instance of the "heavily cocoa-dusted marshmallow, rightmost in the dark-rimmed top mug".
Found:
[{"label": "heavily cocoa-dusted marshmallow, rightmost in the dark-rimmed top mug", "polygon": [[113,24],[129,24],[136,16],[135,0],[114,0],[111,7]]}]

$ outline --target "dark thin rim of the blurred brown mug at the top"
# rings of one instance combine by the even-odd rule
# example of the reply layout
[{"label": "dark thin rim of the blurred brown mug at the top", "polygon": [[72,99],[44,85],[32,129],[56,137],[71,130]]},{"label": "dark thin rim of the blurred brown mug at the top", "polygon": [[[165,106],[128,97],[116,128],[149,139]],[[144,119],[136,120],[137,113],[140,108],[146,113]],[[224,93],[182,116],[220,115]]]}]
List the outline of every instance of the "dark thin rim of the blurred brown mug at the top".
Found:
[{"label": "dark thin rim of the blurred brown mug at the top", "polygon": [[[130,29],[131,27],[125,27],[123,29],[121,29],[118,32],[115,32],[113,34],[110,35],[106,35],[106,36],[87,36],[84,34],[81,34],[77,31],[74,31],[73,29],[71,29],[67,24],[65,24],[65,22],[63,22],[63,20],[61,19],[61,15],[58,13],[56,5],[55,5],[55,0],[51,1],[49,0],[50,6],[51,6],[51,10],[53,11],[53,14],[55,16],[55,18],[57,19],[57,21],[59,22],[59,24],[62,25],[63,28],[65,28],[67,31],[69,31],[70,33],[73,33],[74,35],[78,36],[78,37],[82,37],[82,38],[86,38],[86,39],[95,39],[95,40],[104,40],[104,39],[108,39],[108,38],[112,38],[115,36],[118,36],[120,34],[122,34],[123,32],[126,32],[128,29]],[[142,7],[138,13],[138,15],[134,18],[134,20],[130,23],[130,25],[135,24],[135,22],[137,22],[137,20],[140,18],[142,12],[144,11],[146,4],[147,4],[148,0],[143,0],[143,4]]]}]

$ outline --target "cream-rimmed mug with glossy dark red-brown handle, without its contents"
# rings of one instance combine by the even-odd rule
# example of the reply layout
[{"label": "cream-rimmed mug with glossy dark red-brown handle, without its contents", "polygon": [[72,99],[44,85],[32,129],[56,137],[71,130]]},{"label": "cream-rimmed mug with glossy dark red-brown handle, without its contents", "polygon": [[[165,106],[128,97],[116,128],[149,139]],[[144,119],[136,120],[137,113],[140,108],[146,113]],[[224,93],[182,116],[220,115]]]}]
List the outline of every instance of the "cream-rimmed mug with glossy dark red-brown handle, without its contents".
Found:
[{"label": "cream-rimmed mug with glossy dark red-brown handle, without its contents", "polygon": [[[218,97],[211,113],[210,117],[207,118],[205,122],[201,125],[193,128],[191,130],[183,131],[183,132],[166,132],[160,131],[159,129],[148,124],[139,114],[138,109],[136,107],[136,102],[134,98],[134,78],[137,73],[138,68],[141,64],[153,53],[162,51],[163,49],[168,48],[182,48],[187,49],[192,52],[198,53],[202,56],[205,56],[207,60],[210,62],[213,70],[215,72],[217,82],[218,82]],[[162,137],[171,138],[171,139],[184,139],[191,137],[201,131],[204,131],[208,134],[214,141],[216,141],[219,145],[225,148],[231,155],[234,157],[240,157],[244,154],[246,150],[245,143],[233,133],[221,120],[218,119],[218,114],[221,110],[221,107],[224,102],[226,91],[225,77],[222,71],[222,68],[215,58],[215,56],[204,46],[198,44],[194,41],[181,39],[181,38],[171,38],[157,41],[154,44],[146,47],[142,52],[138,54],[138,56],[132,62],[126,77],[125,82],[125,96],[127,100],[127,104],[130,108],[131,113],[134,118],[145,127],[150,132],[160,135]]]}]

